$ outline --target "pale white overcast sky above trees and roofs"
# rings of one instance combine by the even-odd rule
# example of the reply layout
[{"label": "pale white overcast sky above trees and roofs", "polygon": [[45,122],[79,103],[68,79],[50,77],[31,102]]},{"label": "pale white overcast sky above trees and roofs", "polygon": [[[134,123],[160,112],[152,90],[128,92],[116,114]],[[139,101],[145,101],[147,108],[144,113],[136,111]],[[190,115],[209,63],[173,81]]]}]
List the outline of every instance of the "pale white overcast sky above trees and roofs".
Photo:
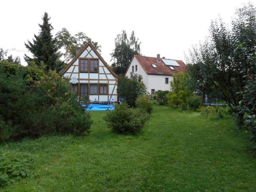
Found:
[{"label": "pale white overcast sky above trees and roofs", "polygon": [[[56,32],[65,27],[72,34],[85,32],[102,46],[101,56],[110,63],[114,39],[121,30],[132,30],[141,41],[145,56],[184,59],[191,45],[208,34],[210,20],[222,17],[230,22],[235,8],[247,0],[214,1],[2,1],[0,48],[27,51],[24,42],[38,34],[44,12]],[[256,0],[251,0],[256,5]],[[20,56],[25,52],[8,51]]]}]

